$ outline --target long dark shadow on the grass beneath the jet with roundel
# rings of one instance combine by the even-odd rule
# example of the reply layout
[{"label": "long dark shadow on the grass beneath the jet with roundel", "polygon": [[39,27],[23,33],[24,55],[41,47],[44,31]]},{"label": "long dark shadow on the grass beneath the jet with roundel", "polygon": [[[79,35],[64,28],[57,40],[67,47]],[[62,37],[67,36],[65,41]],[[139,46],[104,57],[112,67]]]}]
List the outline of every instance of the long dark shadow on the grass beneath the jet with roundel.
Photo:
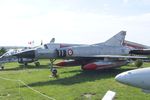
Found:
[{"label": "long dark shadow on the grass beneath the jet with roundel", "polygon": [[64,73],[76,73],[76,72],[80,72],[80,73],[71,77],[65,77],[65,78],[60,77],[55,80],[36,82],[36,83],[28,84],[28,85],[32,87],[44,86],[44,85],[73,85],[73,84],[79,84],[83,82],[92,82],[92,81],[100,80],[100,79],[114,78],[117,74],[127,71],[127,70],[131,70],[131,68],[111,69],[111,70],[109,69],[109,70],[102,70],[102,71],[74,70],[74,71],[68,71]]}]

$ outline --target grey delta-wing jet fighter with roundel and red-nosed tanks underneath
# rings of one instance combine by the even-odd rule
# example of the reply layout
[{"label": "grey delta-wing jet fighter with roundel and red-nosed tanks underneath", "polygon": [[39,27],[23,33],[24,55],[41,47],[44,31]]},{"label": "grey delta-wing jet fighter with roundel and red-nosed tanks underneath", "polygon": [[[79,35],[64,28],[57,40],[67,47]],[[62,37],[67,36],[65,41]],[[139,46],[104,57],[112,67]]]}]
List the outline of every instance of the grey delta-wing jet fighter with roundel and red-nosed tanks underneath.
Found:
[{"label": "grey delta-wing jet fighter with roundel and red-nosed tanks underneath", "polygon": [[123,45],[126,31],[121,31],[106,42],[93,45],[79,44],[45,44],[43,48],[28,49],[14,54],[18,58],[50,59],[51,65],[55,59],[71,59],[57,65],[81,65],[83,70],[98,70],[126,65],[127,59],[147,58],[130,56],[131,49]]}]

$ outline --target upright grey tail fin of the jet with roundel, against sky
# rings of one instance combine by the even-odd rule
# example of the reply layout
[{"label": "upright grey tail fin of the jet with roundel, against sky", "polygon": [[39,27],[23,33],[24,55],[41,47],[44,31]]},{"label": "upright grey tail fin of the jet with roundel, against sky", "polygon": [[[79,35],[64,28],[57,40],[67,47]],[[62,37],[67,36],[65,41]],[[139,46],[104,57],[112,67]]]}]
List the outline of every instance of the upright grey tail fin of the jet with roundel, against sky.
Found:
[{"label": "upright grey tail fin of the jet with roundel, against sky", "polygon": [[118,34],[104,42],[105,45],[121,46],[125,40],[126,31],[120,31]]}]

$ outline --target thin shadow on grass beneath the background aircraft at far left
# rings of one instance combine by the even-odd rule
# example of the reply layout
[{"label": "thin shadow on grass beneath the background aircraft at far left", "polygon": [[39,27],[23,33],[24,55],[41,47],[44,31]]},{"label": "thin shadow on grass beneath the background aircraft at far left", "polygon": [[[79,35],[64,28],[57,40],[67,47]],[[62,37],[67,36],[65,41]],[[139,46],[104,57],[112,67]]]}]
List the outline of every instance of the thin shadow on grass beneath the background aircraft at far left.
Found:
[{"label": "thin shadow on grass beneath the background aircraft at far left", "polygon": [[[7,67],[6,67],[7,68]],[[40,66],[35,66],[35,65],[19,65],[18,67],[12,67],[8,69],[4,69],[1,71],[16,71],[16,70],[23,70],[23,69],[48,69],[49,65],[40,65]]]}]

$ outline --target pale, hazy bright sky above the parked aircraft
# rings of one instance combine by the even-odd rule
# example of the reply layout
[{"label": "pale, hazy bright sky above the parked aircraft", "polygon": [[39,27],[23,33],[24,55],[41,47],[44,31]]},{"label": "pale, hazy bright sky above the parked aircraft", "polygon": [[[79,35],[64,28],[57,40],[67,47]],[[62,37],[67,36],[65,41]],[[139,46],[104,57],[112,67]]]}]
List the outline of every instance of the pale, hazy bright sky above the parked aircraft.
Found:
[{"label": "pale, hazy bright sky above the parked aircraft", "polygon": [[121,30],[150,45],[150,0],[0,0],[0,46],[94,44]]}]

